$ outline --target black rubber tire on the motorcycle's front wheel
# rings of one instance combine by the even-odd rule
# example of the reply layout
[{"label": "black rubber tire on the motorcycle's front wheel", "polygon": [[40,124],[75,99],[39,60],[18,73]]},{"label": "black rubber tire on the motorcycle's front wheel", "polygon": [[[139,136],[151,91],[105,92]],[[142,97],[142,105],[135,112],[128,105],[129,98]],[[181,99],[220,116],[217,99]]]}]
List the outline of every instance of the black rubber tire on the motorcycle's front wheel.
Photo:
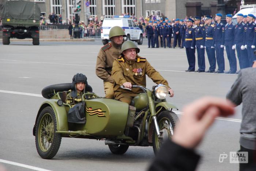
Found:
[{"label": "black rubber tire on the motorcycle's front wheel", "polygon": [[[157,116],[159,131],[167,131],[169,139],[172,139],[173,130],[175,129],[175,126],[178,121],[179,121],[179,118],[178,118],[177,114],[174,112],[171,112],[169,110],[165,110],[165,111],[159,113]],[[166,127],[163,128],[162,122],[165,122],[165,123],[167,122],[169,125],[169,129],[166,129]],[[155,131],[155,127],[153,129],[154,129],[153,130],[153,150],[156,155],[161,147],[163,139],[159,139],[157,136],[157,133]]]}]

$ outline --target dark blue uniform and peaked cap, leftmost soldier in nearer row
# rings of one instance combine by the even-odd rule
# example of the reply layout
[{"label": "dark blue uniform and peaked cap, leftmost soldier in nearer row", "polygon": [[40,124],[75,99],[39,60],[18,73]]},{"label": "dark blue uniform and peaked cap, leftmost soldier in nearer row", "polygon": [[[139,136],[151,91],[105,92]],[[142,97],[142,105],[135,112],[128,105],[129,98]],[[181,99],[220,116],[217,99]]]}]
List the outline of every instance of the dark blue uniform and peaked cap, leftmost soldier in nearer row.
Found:
[{"label": "dark blue uniform and peaked cap, leftmost soldier in nearer row", "polygon": [[[188,19],[187,22],[194,22],[192,19]],[[195,57],[195,28],[188,27],[185,33],[184,46],[186,48],[186,54],[188,58],[188,72],[195,71],[196,57]],[[193,48],[191,48],[193,47]]]}]

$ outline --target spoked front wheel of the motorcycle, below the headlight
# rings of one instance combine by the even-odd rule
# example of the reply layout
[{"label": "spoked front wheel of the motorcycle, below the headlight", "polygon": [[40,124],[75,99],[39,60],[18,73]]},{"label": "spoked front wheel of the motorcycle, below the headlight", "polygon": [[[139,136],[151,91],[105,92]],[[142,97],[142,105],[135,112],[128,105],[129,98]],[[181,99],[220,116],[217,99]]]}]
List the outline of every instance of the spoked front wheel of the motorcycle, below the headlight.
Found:
[{"label": "spoked front wheel of the motorcycle, below the headlight", "polygon": [[176,113],[165,110],[158,114],[157,116],[158,127],[160,131],[160,137],[157,136],[157,132],[153,131],[153,150],[157,154],[161,144],[167,140],[172,139],[174,127],[179,121],[179,118]]}]

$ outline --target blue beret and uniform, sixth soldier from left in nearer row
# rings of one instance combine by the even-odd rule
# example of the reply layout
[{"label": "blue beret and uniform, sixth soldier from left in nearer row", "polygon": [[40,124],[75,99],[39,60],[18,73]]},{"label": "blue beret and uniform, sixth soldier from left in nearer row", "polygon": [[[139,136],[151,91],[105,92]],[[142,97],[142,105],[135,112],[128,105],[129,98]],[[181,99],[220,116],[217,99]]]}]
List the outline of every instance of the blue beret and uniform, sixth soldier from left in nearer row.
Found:
[{"label": "blue beret and uniform, sixth soldier from left in nearer row", "polygon": [[[243,16],[243,15],[241,13],[238,13],[237,16]],[[235,27],[234,44],[236,44],[237,58],[239,60],[240,69],[249,67],[247,50],[241,49],[241,46],[245,45],[246,27],[247,27],[246,24],[243,22],[241,22],[240,24],[237,23]]]}]

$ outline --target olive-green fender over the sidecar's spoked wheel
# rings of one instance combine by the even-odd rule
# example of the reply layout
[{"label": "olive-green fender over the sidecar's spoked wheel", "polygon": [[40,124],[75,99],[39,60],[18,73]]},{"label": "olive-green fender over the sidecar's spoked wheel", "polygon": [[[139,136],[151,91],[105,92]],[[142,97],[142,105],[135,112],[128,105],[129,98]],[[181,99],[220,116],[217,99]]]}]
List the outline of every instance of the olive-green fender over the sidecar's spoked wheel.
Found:
[{"label": "olive-green fender over the sidecar's spoked wheel", "polygon": [[[37,120],[39,117],[40,112],[48,107],[51,106],[54,110],[55,116],[56,116],[56,120],[57,120],[57,131],[68,131],[68,117],[67,117],[67,111],[65,110],[65,106],[64,105],[57,105],[57,101],[56,99],[50,99],[48,101],[45,101],[42,103],[42,105],[40,106],[38,113],[37,113],[37,118],[35,120],[35,125],[37,124]],[[35,135],[35,125],[33,128],[33,135]]]}]

